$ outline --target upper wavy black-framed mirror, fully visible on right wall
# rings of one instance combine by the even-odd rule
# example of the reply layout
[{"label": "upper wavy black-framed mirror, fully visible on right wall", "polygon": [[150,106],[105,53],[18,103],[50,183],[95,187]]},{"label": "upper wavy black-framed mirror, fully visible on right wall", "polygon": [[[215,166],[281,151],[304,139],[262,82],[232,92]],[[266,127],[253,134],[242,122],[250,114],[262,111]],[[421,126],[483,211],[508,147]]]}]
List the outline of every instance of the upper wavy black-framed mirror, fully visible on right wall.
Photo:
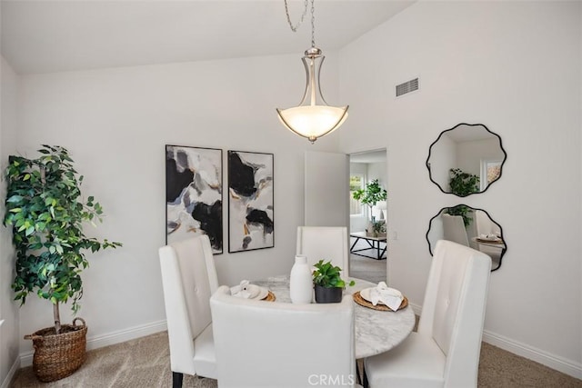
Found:
[{"label": "upper wavy black-framed mirror, fully visible on right wall", "polygon": [[430,180],[447,194],[483,193],[501,177],[507,154],[501,137],[484,124],[457,124],[430,144],[426,168]]}]

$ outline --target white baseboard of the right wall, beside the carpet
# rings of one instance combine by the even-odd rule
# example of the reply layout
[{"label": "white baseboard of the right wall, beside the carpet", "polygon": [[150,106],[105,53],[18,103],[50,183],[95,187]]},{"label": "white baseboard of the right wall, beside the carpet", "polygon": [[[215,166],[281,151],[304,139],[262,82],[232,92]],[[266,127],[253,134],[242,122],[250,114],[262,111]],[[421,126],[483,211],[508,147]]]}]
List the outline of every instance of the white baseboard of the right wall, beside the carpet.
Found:
[{"label": "white baseboard of the right wall, beside the carpet", "polygon": [[529,360],[546,365],[561,373],[566,373],[577,379],[582,379],[582,363],[574,363],[571,360],[559,357],[557,355],[544,352],[525,343],[518,343],[502,335],[483,332],[483,341],[490,343],[498,348],[506,350],[509,353],[517,354]]}]

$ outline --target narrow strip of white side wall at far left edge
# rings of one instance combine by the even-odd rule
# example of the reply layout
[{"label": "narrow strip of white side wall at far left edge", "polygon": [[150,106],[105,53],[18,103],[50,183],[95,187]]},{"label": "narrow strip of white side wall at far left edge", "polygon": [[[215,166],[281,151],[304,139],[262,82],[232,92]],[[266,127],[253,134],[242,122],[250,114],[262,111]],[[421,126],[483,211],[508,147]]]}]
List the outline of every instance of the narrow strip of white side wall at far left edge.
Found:
[{"label": "narrow strip of white side wall at far left edge", "polygon": [[[16,144],[16,101],[18,98],[18,76],[0,57],[0,214],[4,219],[6,184],[4,170],[8,164],[8,155],[14,154]],[[14,273],[14,249],[12,248],[12,230],[0,226],[0,386],[7,386],[11,376],[18,367],[18,308],[13,302],[12,275]]]}]

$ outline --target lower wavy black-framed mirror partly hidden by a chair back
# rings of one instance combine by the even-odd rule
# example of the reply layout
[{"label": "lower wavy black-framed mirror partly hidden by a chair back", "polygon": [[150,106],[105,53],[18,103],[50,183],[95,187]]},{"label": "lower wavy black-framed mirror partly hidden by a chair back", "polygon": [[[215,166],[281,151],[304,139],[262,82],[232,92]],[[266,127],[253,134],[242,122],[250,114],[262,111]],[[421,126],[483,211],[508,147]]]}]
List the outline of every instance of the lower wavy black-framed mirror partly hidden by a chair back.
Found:
[{"label": "lower wavy black-framed mirror partly hidden by a chair back", "polygon": [[488,254],[491,257],[492,272],[499,269],[507,253],[501,226],[485,210],[467,204],[444,207],[430,219],[426,242],[431,255],[438,240],[453,241]]}]

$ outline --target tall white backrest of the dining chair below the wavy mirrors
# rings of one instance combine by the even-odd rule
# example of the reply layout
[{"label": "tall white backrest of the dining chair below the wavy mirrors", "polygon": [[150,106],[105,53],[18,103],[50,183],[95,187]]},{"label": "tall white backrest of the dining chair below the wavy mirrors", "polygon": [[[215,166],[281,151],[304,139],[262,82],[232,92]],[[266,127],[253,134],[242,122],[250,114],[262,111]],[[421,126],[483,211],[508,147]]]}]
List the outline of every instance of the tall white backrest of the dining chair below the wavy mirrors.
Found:
[{"label": "tall white backrest of the dining chair below the wavy mirrors", "polygon": [[418,334],[432,337],[446,354],[446,386],[477,386],[490,274],[487,254],[437,242]]}]

